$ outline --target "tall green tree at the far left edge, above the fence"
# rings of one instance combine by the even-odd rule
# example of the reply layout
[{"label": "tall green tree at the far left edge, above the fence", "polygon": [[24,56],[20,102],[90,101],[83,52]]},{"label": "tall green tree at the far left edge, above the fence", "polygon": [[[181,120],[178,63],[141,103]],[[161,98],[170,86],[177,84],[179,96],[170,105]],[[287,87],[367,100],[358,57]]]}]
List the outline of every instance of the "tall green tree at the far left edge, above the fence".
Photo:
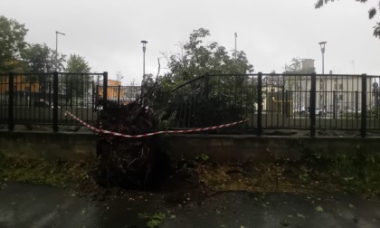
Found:
[{"label": "tall green tree at the far left edge, above the fence", "polygon": [[24,36],[27,32],[24,24],[0,16],[0,73],[22,71],[20,68],[24,65],[20,62],[20,53],[26,46]]}]

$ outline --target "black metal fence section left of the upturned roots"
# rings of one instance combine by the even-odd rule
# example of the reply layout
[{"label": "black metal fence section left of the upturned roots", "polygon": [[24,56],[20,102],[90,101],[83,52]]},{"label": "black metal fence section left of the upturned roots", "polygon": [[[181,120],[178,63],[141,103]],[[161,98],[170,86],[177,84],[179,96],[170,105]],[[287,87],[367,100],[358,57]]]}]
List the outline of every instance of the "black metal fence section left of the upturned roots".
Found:
[{"label": "black metal fence section left of the upturned roots", "polygon": [[94,125],[100,98],[127,104],[139,86],[109,86],[108,73],[9,73],[0,75],[0,125],[81,125],[66,110]]}]

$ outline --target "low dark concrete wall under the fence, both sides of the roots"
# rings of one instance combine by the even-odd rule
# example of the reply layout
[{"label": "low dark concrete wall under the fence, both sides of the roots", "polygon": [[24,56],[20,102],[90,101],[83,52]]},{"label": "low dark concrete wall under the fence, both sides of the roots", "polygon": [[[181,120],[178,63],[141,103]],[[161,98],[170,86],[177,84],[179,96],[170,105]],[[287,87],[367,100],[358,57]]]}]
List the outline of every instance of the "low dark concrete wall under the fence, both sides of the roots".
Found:
[{"label": "low dark concrete wall under the fence, both sides of the roots", "polygon": [[[191,159],[202,154],[211,161],[270,162],[297,160],[305,153],[327,155],[357,152],[378,153],[380,138],[295,138],[235,135],[160,136],[172,157]],[[6,157],[62,160],[96,159],[94,134],[0,131],[0,154]]]}]

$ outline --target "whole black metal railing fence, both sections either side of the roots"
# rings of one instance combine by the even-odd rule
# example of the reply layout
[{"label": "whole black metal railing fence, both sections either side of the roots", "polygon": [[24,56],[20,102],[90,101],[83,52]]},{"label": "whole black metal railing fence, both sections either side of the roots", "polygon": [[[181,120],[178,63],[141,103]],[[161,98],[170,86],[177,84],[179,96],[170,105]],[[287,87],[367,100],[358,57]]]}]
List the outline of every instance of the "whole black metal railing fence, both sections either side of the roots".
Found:
[{"label": "whole black metal railing fence, both sections either side of the roots", "polygon": [[[173,92],[176,128],[248,119],[244,132],[267,129],[380,130],[380,76],[320,74],[206,74]],[[81,125],[66,109],[96,124],[100,98],[127,104],[139,86],[108,85],[108,73],[0,75],[0,125]],[[260,104],[260,105],[259,105]]]}]

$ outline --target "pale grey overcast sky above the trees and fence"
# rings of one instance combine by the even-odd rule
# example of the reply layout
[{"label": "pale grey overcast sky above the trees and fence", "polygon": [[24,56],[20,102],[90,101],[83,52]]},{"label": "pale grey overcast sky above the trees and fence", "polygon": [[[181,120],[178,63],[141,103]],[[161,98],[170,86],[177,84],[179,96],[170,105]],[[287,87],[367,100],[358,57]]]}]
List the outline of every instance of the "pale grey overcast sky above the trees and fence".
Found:
[{"label": "pale grey overcast sky above the trees and fence", "polygon": [[318,45],[328,42],[325,72],[380,75],[380,39],[373,27],[380,15],[368,19],[369,8],[354,0],[328,3],[315,9],[317,0],[0,0],[0,14],[29,29],[27,43],[46,43],[58,52],[85,57],[92,71],[117,71],[139,84],[143,73],[141,40],[146,40],[146,73],[161,72],[161,52],[180,52],[195,29],[210,30],[209,40],[247,54],[254,71],[278,73],[294,57],[314,59],[322,71]]}]

